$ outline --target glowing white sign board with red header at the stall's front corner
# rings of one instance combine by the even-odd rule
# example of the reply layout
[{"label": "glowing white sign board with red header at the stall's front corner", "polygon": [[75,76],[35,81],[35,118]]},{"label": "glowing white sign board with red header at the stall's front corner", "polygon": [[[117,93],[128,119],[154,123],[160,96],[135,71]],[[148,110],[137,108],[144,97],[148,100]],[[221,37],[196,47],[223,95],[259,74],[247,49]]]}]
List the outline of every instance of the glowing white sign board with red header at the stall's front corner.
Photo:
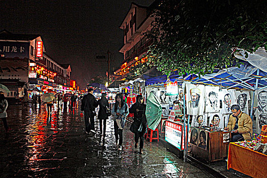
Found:
[{"label": "glowing white sign board with red header at the stall's front corner", "polygon": [[183,125],[166,121],[165,140],[173,146],[177,147],[177,149],[184,150]]}]

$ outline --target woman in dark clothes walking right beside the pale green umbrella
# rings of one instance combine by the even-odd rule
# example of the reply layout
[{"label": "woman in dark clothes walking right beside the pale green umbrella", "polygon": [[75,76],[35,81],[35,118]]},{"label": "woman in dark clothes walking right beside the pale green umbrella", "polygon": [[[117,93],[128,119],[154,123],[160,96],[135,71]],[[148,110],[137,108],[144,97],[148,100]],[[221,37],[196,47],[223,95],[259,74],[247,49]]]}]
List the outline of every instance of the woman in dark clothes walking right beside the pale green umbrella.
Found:
[{"label": "woman in dark clothes walking right beside the pale green umbrella", "polygon": [[134,122],[138,123],[136,124],[138,126],[136,128],[137,130],[134,133],[134,140],[135,140],[134,147],[135,149],[137,149],[138,140],[140,138],[140,144],[139,144],[140,154],[143,154],[144,134],[147,131],[145,108],[146,108],[146,105],[143,104],[142,95],[137,95],[136,102],[129,109],[129,112],[134,114],[134,118],[133,118]]}]

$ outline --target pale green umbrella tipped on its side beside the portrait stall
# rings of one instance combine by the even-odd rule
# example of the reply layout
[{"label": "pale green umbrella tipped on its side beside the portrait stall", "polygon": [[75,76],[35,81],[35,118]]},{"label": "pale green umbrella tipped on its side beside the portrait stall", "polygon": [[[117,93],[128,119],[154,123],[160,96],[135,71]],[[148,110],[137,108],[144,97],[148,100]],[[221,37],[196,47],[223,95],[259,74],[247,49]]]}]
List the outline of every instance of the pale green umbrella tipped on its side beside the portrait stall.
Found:
[{"label": "pale green umbrella tipped on its side beside the portrait stall", "polygon": [[161,121],[161,112],[162,108],[159,99],[151,93],[147,98],[145,110],[147,125],[149,125],[150,129],[155,130],[158,127]]}]

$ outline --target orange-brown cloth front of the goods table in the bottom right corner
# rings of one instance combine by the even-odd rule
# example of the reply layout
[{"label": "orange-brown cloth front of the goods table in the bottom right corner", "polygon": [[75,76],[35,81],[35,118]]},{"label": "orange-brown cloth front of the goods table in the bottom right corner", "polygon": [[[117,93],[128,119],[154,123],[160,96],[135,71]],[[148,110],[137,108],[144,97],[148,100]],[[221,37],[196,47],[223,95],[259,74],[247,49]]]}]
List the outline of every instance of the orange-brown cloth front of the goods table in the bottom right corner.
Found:
[{"label": "orange-brown cloth front of the goods table in the bottom right corner", "polygon": [[266,177],[266,163],[266,155],[249,150],[238,144],[230,143],[227,162],[228,169],[232,168],[252,177]]}]

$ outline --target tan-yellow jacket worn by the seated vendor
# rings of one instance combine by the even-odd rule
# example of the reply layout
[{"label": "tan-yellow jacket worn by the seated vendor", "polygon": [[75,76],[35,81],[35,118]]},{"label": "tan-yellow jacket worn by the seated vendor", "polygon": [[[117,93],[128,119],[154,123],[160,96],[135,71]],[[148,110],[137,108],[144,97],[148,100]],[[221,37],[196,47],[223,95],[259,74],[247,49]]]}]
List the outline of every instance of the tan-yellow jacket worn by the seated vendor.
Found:
[{"label": "tan-yellow jacket worn by the seated vendor", "polygon": [[[250,140],[252,138],[252,120],[250,116],[246,113],[243,113],[242,111],[240,112],[238,116],[238,133],[242,134],[245,140]],[[236,119],[233,116],[233,114],[230,115],[229,117],[229,122],[227,124],[227,128],[229,130],[233,130],[234,125],[235,125]]]}]

